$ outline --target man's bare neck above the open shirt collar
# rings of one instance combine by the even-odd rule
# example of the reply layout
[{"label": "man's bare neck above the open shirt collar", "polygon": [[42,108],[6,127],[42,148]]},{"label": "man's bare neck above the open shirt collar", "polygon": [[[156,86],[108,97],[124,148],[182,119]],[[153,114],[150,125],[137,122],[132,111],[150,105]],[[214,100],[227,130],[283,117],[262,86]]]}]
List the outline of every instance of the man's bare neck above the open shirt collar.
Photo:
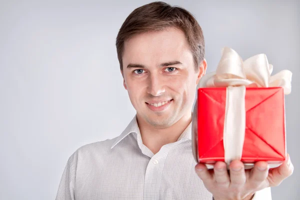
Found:
[{"label": "man's bare neck above the open shirt collar", "polygon": [[141,134],[142,143],[147,146],[154,154],[167,144],[178,140],[181,133],[191,122],[190,115],[181,117],[177,122],[167,128],[158,128],[150,125],[137,116],[137,123]]}]

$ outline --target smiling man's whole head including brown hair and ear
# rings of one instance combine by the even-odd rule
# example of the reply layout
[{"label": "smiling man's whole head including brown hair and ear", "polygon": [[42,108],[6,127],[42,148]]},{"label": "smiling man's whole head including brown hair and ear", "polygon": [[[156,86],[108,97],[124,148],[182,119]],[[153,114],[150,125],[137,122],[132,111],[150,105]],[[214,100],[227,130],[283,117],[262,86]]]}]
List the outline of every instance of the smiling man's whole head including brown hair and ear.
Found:
[{"label": "smiling man's whole head including brown hair and ear", "polygon": [[116,38],[117,56],[137,116],[168,127],[190,116],[206,70],[201,27],[185,9],[153,2],[133,10]]}]

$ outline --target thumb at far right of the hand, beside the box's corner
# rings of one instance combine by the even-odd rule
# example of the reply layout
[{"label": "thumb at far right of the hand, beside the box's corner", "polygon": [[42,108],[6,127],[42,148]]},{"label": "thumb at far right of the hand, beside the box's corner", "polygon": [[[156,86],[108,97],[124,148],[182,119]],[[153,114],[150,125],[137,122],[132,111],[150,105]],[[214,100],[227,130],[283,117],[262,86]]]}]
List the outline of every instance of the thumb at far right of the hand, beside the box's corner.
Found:
[{"label": "thumb at far right of the hand, beside the box's corner", "polygon": [[273,168],[269,171],[267,179],[269,181],[270,186],[279,185],[282,180],[290,176],[293,172],[293,165],[290,161],[289,154],[286,156],[286,160],[278,167]]}]

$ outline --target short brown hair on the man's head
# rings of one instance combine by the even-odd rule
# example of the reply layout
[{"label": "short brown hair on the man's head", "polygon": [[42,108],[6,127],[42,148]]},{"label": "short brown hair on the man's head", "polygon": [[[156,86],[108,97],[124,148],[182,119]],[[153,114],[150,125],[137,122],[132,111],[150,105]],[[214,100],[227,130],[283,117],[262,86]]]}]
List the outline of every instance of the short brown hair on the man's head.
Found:
[{"label": "short brown hair on the man's head", "polygon": [[204,37],[200,25],[186,9],[161,1],[134,9],[123,22],[115,42],[120,69],[123,70],[122,53],[126,39],[134,34],[160,31],[167,27],[177,27],[185,33],[197,71],[204,58]]}]

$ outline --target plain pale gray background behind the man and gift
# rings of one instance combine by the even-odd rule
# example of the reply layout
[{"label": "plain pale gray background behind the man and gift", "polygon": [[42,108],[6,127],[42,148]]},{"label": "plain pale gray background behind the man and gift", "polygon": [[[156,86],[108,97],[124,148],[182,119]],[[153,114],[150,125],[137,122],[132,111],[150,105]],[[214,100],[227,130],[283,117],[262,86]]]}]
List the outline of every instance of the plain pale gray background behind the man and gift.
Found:
[{"label": "plain pale gray background behind the man and gift", "polygon": [[[0,2],[0,199],[54,199],[78,147],[121,133],[134,115],[122,86],[115,37],[148,0]],[[287,150],[295,170],[273,199],[298,199],[300,1],[169,0],[203,28],[207,71],[221,47],[265,53],[293,72],[285,98]]]}]

